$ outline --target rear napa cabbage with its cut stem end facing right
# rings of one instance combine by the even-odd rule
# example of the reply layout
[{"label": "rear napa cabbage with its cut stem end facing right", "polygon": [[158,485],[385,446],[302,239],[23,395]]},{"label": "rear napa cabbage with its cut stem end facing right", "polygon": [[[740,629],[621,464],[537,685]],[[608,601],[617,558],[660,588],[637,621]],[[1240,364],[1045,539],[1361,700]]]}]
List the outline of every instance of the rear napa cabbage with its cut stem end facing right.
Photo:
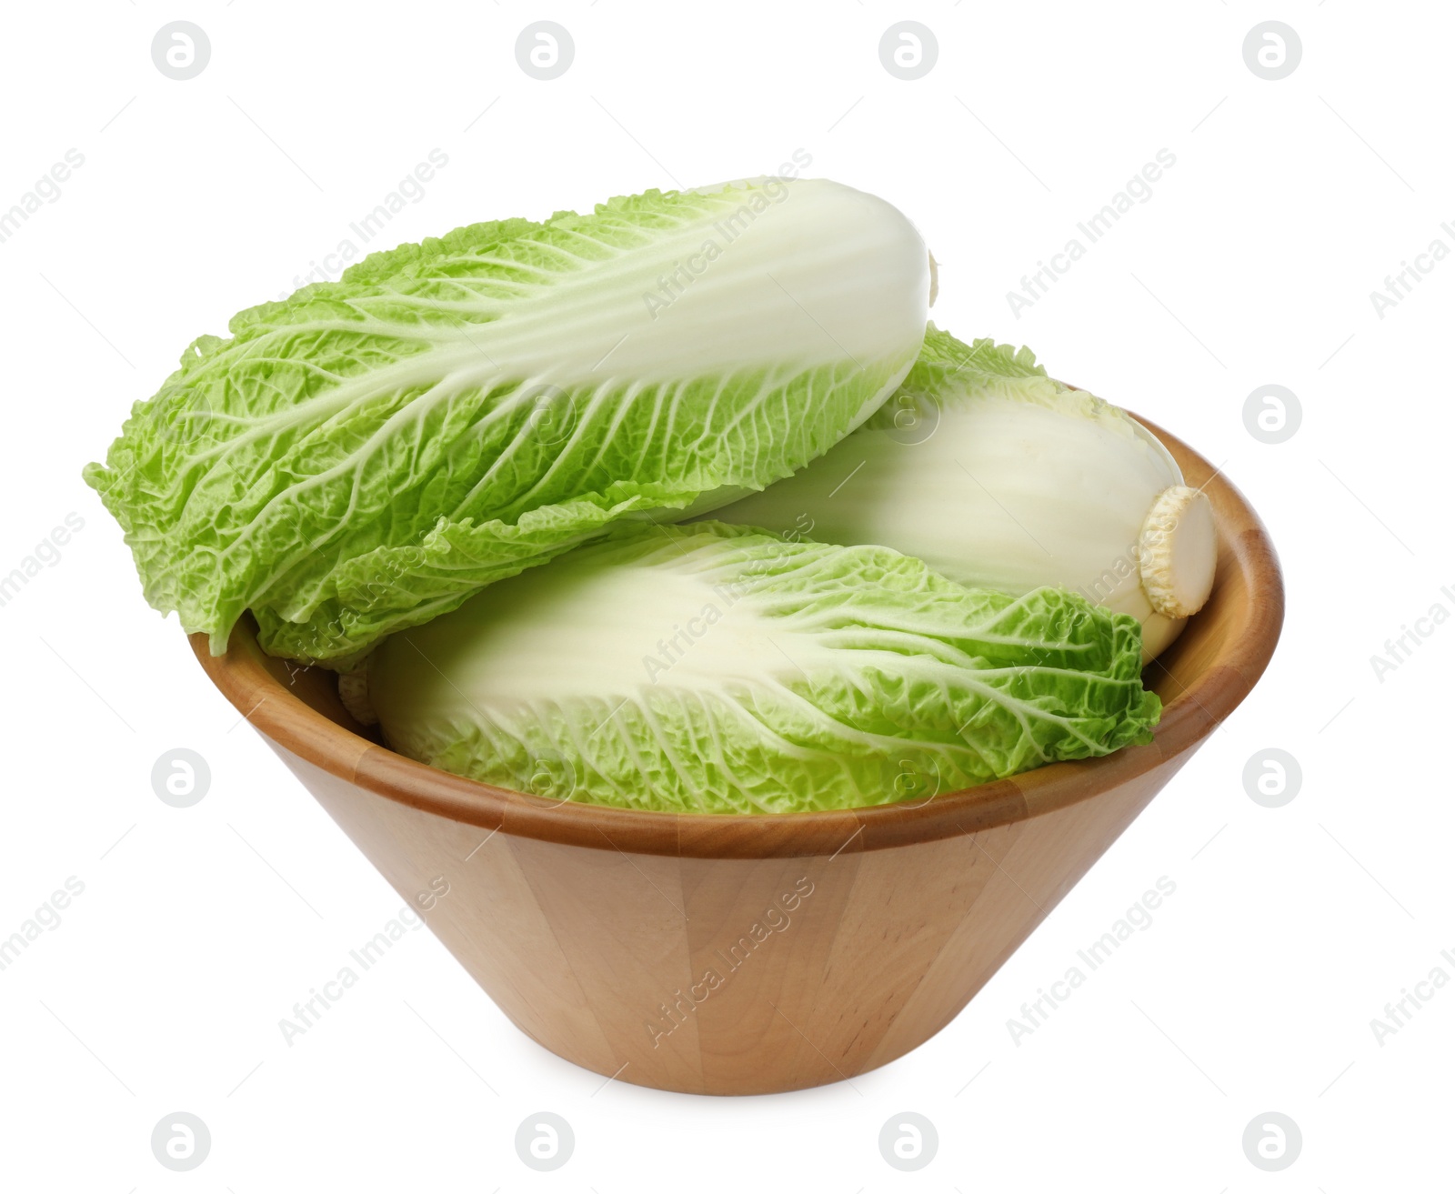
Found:
[{"label": "rear napa cabbage with its cut stem end facing right", "polygon": [[1211,503],[1141,423],[1026,349],[933,324],[873,419],[714,518],[882,544],[962,585],[1062,586],[1135,617],[1145,660],[1206,602],[1216,564]]}]

